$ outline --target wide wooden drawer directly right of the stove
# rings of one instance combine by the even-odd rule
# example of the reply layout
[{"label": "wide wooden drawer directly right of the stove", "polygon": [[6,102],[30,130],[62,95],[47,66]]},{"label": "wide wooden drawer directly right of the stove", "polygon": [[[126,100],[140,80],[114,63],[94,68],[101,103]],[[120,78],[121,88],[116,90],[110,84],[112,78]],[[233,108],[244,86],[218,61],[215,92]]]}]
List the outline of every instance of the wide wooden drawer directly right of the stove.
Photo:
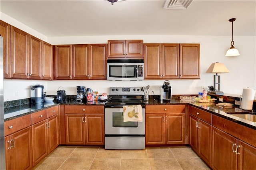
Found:
[{"label": "wide wooden drawer directly right of the stove", "polygon": [[185,105],[150,105],[146,113],[185,113]]}]

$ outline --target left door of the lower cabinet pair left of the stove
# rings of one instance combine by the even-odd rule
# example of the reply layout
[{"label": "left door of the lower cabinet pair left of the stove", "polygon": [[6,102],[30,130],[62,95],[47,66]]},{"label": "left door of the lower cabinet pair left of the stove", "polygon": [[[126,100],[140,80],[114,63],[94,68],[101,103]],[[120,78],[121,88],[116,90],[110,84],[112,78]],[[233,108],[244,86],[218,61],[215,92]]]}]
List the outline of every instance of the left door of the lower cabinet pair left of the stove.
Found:
[{"label": "left door of the lower cabinet pair left of the stove", "polygon": [[84,115],[66,114],[66,144],[85,144]]}]

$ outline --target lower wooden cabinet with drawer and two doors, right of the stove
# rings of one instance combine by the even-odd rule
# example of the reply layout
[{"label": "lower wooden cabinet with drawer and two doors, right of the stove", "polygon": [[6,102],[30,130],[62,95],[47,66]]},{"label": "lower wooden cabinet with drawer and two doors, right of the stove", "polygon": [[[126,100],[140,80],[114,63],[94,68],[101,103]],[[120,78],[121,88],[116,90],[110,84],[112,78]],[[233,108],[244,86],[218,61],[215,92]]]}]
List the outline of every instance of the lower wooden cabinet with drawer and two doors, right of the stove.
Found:
[{"label": "lower wooden cabinet with drawer and two doors, right of the stove", "polygon": [[146,144],[185,144],[185,105],[146,106]]}]

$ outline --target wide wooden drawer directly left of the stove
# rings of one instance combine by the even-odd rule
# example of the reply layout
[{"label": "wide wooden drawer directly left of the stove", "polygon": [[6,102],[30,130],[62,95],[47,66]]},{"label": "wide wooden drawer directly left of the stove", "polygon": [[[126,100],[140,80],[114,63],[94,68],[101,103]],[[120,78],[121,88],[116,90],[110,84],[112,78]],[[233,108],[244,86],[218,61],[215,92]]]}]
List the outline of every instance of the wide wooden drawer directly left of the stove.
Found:
[{"label": "wide wooden drawer directly left of the stove", "polygon": [[65,106],[65,113],[104,114],[104,106]]}]

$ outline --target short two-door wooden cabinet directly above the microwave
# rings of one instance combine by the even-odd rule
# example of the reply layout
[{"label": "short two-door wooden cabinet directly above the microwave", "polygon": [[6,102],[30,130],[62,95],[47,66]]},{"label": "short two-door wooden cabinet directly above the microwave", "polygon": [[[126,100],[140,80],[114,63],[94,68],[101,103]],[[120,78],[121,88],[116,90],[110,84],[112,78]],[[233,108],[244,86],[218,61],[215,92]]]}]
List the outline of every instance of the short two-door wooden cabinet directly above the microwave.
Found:
[{"label": "short two-door wooden cabinet directly above the microwave", "polygon": [[108,58],[144,57],[143,40],[108,40]]}]

